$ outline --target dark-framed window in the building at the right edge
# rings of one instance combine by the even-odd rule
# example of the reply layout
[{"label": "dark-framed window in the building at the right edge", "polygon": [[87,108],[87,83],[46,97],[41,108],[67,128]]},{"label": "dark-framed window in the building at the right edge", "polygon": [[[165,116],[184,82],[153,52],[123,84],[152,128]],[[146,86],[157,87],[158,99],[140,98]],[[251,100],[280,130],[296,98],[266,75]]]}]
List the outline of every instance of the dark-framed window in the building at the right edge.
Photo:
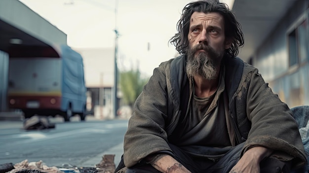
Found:
[{"label": "dark-framed window in the building at the right edge", "polygon": [[294,66],[309,59],[308,19],[304,20],[288,35],[289,65]]}]

